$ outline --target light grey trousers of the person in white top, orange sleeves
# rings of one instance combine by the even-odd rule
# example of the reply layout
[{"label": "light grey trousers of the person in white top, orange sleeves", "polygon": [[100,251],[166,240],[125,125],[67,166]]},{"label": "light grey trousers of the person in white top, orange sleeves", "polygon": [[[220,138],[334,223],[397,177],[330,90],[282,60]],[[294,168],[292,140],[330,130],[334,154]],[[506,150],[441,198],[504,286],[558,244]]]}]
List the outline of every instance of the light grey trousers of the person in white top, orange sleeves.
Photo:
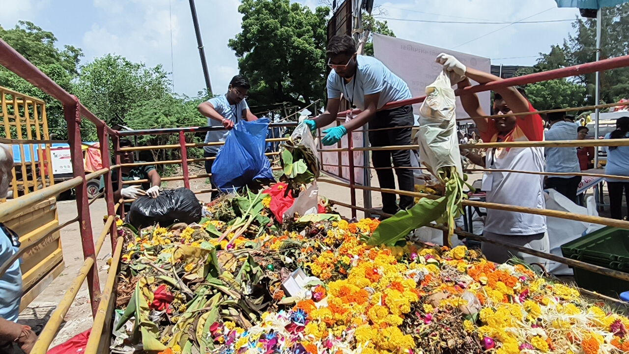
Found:
[{"label": "light grey trousers of the person in white top, orange sleeves", "polygon": [[[512,243],[518,246],[535,249],[535,251],[550,253],[550,241],[546,232],[540,232],[539,234],[526,236],[514,236],[494,234],[493,232],[485,231],[482,236],[487,237],[491,240],[500,241],[503,243]],[[513,249],[504,248],[502,246],[498,246],[497,244],[484,242],[481,244],[481,251],[482,254],[487,257],[487,260],[496,262],[498,264],[502,264],[513,257],[517,257],[521,260],[526,261],[526,263],[528,264],[538,263],[542,265],[544,269],[546,269],[548,266],[548,260],[546,260],[545,258],[533,256],[532,254],[528,253],[518,252]]]}]

